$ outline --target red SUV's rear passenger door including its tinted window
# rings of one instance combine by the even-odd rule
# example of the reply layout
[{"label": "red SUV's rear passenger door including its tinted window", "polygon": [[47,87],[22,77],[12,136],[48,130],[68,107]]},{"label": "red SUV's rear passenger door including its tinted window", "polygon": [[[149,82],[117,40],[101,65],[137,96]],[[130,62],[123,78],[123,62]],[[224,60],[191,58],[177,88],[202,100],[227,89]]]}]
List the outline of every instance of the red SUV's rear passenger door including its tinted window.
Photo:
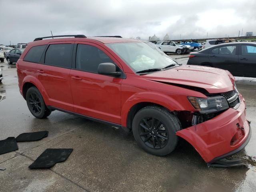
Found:
[{"label": "red SUV's rear passenger door including its tinted window", "polygon": [[37,66],[36,76],[47,94],[47,104],[73,111],[69,73],[74,41],[51,42]]}]

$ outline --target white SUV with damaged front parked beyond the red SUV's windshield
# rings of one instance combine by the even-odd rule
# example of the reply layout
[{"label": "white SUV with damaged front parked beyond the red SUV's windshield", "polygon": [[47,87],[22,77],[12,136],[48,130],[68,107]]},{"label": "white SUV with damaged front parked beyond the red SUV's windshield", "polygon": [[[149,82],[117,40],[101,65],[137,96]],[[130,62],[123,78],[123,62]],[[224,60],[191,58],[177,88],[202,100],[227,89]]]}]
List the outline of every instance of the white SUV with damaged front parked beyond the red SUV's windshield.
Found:
[{"label": "white SUV with damaged front parked beyond the red SUV's windshield", "polygon": [[173,41],[157,42],[156,46],[165,53],[189,54],[190,49],[186,46],[176,45]]}]

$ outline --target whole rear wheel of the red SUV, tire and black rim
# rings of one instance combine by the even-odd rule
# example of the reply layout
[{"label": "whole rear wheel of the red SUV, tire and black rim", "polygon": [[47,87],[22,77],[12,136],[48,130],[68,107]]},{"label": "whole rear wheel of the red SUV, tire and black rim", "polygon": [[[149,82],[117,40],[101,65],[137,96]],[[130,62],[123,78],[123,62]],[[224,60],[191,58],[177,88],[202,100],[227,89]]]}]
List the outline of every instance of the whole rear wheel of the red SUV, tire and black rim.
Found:
[{"label": "whole rear wheel of the red SUV, tire and black rim", "polygon": [[48,117],[51,114],[44,103],[44,99],[36,87],[30,87],[26,93],[28,109],[33,116],[39,119]]}]

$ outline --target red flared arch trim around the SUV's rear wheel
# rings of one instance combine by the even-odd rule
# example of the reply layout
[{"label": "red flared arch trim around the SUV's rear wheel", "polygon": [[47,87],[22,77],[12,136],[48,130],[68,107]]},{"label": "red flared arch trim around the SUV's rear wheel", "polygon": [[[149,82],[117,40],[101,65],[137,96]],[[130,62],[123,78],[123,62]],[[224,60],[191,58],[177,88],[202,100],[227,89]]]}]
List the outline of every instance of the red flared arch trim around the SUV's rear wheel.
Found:
[{"label": "red flared arch trim around the SUV's rear wheel", "polygon": [[[23,86],[25,83],[32,83],[36,86],[36,88],[38,88],[39,92],[41,93],[43,99],[44,99],[44,102],[46,105],[48,105],[48,102],[49,102],[49,96],[44,88],[44,86],[42,85],[42,83],[37,79],[35,78],[34,76],[25,76],[23,81],[22,81],[22,87],[21,87],[21,90],[23,90]],[[23,93],[22,93],[23,95]]]}]

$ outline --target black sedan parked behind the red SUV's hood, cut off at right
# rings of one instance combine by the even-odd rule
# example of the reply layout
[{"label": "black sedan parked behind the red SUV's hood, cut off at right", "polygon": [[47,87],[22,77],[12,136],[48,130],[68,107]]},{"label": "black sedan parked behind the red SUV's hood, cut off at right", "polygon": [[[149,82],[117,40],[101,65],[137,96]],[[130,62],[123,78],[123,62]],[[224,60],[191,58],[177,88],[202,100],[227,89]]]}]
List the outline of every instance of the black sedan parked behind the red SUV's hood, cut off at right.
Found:
[{"label": "black sedan parked behind the red SUV's hood, cut off at right", "polygon": [[228,70],[234,76],[256,77],[256,43],[224,43],[191,53],[188,65]]}]

